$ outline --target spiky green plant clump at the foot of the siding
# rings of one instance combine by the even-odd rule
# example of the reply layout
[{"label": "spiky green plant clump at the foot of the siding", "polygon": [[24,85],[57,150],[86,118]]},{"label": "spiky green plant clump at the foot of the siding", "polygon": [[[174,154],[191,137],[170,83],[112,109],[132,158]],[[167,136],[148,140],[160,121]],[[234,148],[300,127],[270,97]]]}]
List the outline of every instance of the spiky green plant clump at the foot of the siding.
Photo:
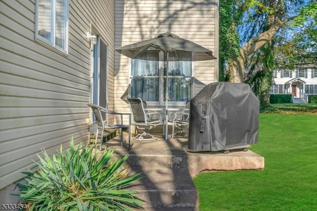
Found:
[{"label": "spiky green plant clump at the foot of the siding", "polygon": [[21,188],[21,202],[28,210],[46,211],[131,211],[143,209],[143,200],[134,196],[136,191],[122,188],[141,179],[140,174],[127,175],[122,167],[128,156],[113,158],[113,150],[105,150],[97,158],[96,148],[82,143],[75,149],[73,139],[70,148],[49,156],[43,150],[39,155],[38,171],[26,174]]}]

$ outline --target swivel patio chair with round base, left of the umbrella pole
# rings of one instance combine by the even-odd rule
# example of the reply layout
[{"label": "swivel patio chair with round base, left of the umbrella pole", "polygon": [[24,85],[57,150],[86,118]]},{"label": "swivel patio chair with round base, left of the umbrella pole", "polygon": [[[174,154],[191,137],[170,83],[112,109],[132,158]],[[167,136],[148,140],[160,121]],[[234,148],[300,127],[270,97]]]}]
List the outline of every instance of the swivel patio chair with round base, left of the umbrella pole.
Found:
[{"label": "swivel patio chair with round base, left of the umbrella pole", "polygon": [[133,140],[157,140],[155,136],[150,134],[150,129],[163,125],[161,114],[157,111],[150,111],[146,102],[141,98],[127,98],[127,101],[132,113],[132,124],[136,126],[136,130],[143,130],[142,134],[135,132]]}]

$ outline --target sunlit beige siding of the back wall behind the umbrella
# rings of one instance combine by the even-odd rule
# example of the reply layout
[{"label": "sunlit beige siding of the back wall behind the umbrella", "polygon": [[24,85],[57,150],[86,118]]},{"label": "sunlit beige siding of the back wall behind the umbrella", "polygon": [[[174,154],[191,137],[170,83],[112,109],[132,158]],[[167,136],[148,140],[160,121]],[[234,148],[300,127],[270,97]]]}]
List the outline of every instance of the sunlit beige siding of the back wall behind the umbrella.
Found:
[{"label": "sunlit beige siding of the back wall behind the umbrella", "polygon": [[[115,47],[154,38],[170,31],[210,49],[218,56],[217,0],[116,0]],[[128,111],[129,58],[115,53],[116,110]],[[218,80],[218,61],[195,62],[194,95]]]}]

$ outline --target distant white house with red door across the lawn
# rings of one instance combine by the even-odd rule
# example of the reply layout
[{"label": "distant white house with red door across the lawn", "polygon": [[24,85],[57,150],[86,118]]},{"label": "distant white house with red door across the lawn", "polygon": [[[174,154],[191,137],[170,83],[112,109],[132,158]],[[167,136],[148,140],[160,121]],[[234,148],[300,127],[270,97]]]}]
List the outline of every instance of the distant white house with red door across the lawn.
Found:
[{"label": "distant white house with red door across the lawn", "polygon": [[317,68],[274,70],[270,94],[292,94],[308,102],[309,95],[317,95]]}]

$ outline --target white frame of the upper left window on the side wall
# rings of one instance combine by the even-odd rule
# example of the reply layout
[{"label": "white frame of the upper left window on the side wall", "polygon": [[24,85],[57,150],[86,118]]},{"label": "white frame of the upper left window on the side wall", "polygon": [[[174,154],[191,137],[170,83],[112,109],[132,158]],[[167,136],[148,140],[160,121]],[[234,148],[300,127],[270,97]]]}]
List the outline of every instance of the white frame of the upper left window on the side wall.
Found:
[{"label": "white frame of the upper left window on the side wall", "polygon": [[50,39],[46,39],[45,37],[41,36],[39,34],[39,1],[41,0],[36,0],[36,14],[35,14],[35,40],[37,41],[41,41],[51,47],[53,47],[54,49],[57,49],[58,51],[61,51],[62,53],[68,53],[68,1],[69,0],[65,0],[65,8],[64,8],[64,48],[61,48],[59,46],[56,45],[55,43],[55,5],[56,5],[56,0],[51,0],[51,36]]}]

